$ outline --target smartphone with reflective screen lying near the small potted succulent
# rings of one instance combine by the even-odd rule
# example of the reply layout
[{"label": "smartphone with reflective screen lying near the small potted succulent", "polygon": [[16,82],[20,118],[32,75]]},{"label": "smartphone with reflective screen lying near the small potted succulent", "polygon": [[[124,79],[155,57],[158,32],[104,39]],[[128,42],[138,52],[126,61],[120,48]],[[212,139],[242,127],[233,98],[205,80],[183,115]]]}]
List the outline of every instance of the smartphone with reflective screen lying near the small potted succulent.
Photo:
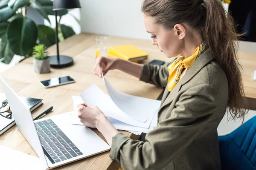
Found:
[{"label": "smartphone with reflective screen lying near the small potted succulent", "polygon": [[40,83],[44,88],[52,88],[55,86],[66,85],[73,82],[75,82],[74,79],[72,79],[70,76],[65,76],[65,77],[56,77],[49,80],[44,80],[44,81],[41,81]]}]

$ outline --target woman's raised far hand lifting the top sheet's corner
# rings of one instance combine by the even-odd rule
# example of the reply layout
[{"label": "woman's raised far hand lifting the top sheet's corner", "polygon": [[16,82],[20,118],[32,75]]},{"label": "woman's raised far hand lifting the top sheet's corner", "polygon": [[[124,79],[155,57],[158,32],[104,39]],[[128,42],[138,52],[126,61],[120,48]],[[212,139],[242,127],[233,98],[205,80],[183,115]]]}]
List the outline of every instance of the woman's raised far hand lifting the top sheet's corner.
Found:
[{"label": "woman's raised far hand lifting the top sheet's corner", "polygon": [[102,71],[103,71],[103,75],[105,76],[105,74],[107,74],[109,70],[116,69],[117,60],[118,58],[108,58],[103,56],[97,57],[96,63],[93,68],[93,74],[102,78]]}]

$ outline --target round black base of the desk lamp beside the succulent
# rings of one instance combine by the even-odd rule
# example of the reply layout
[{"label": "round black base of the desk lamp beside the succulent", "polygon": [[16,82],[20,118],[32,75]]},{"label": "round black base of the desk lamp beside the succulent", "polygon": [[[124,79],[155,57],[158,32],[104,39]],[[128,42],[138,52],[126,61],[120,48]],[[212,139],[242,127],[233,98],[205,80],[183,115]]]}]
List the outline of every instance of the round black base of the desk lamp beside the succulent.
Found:
[{"label": "round black base of the desk lamp beside the succulent", "polygon": [[70,65],[73,65],[73,58],[69,56],[59,56],[59,62],[57,60],[57,56],[50,57],[50,65],[53,68],[64,68]]}]

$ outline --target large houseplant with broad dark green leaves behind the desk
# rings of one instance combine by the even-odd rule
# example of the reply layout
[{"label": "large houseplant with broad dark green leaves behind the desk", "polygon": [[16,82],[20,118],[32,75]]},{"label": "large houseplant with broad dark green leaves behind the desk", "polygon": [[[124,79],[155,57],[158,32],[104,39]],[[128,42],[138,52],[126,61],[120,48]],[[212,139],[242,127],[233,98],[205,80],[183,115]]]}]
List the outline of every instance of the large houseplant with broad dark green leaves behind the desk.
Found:
[{"label": "large houseplant with broad dark green leaves behind the desk", "polygon": [[[49,23],[48,15],[54,15],[52,0],[0,0],[0,60],[9,64],[13,56],[29,57],[33,47],[37,43],[47,47],[55,44],[55,30],[37,25],[26,16],[28,8],[34,8]],[[67,14],[67,10],[58,11],[61,16]],[[75,34],[72,28],[60,24],[58,30],[64,38]],[[3,59],[4,57],[4,59]]]}]

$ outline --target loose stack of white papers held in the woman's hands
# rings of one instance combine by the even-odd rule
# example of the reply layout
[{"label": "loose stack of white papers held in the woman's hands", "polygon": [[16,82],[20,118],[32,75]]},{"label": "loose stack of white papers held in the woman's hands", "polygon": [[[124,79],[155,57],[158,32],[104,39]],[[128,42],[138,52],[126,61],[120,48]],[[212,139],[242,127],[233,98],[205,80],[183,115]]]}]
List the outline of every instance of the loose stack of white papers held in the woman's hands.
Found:
[{"label": "loose stack of white papers held in the woman's hands", "polygon": [[[116,91],[106,78],[103,78],[108,94],[92,85],[79,96],[73,96],[74,110],[79,103],[96,105],[119,130],[127,130],[134,134],[148,133],[157,126],[157,111],[160,101]],[[73,124],[82,125],[77,115]]]}]

